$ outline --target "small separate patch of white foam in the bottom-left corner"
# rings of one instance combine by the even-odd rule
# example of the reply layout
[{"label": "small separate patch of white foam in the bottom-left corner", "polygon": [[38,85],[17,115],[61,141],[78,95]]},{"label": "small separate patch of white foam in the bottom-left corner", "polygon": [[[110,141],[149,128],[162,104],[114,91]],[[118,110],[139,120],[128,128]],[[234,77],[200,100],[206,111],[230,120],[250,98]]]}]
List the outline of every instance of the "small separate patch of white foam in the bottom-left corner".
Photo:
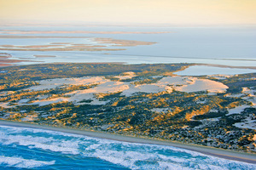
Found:
[{"label": "small separate patch of white foam in the bottom-left corner", "polygon": [[24,159],[22,157],[0,156],[0,165],[7,167],[35,168],[54,165],[55,161],[37,161],[32,159]]}]

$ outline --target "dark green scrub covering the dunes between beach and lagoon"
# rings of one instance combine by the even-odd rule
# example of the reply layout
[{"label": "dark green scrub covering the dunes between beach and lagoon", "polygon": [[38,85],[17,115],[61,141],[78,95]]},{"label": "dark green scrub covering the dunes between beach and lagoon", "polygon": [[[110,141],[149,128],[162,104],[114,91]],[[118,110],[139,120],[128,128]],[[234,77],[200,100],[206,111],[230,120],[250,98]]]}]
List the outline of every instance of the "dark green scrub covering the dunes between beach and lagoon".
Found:
[{"label": "dark green scrub covering the dunes between beach and lagoon", "polygon": [[[131,96],[120,92],[96,94],[96,99],[105,101],[106,105],[91,105],[93,99],[83,99],[79,103],[65,101],[32,105],[32,101],[37,99],[70,97],[67,93],[94,88],[96,84],[63,85],[38,91],[26,89],[38,85],[36,81],[47,78],[105,76],[118,81],[114,76],[125,71],[134,71],[137,76],[119,81],[135,85],[148,84],[186,66],[188,65],[51,64],[2,68],[0,104],[9,103],[9,107],[0,107],[0,117],[255,152],[253,135],[256,131],[236,127],[234,124],[243,122],[248,117],[256,120],[256,109],[250,106],[250,101],[232,97],[241,93],[242,88],[255,89],[255,73],[215,80],[230,87],[224,94],[209,95],[203,91],[184,93],[175,90],[172,93],[164,91]],[[26,99],[26,105],[19,105],[21,99]],[[229,109],[239,105],[248,107],[240,114],[227,115]]]}]

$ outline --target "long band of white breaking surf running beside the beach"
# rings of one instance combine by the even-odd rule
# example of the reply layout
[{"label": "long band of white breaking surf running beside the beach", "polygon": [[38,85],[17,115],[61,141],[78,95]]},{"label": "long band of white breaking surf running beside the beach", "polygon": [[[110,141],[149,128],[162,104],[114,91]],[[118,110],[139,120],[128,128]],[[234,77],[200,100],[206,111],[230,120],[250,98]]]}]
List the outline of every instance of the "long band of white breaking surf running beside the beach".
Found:
[{"label": "long band of white breaking surf running beside the beach", "polygon": [[228,161],[171,146],[96,139],[33,128],[0,128],[2,144],[94,157],[131,169],[256,169],[253,164]]}]

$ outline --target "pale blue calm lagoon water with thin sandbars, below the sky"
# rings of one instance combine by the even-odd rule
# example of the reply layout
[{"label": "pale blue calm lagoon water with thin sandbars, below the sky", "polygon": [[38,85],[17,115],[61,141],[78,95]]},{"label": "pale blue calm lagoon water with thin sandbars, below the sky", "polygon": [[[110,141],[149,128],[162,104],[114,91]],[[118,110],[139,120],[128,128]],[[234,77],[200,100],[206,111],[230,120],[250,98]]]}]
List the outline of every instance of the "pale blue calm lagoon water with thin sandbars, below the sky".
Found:
[{"label": "pale blue calm lagoon water with thin sandbars, below the sky", "polygon": [[[140,64],[183,62],[235,66],[256,65],[255,27],[0,27],[0,30],[12,29],[24,31],[170,31],[163,34],[20,34],[21,36],[110,37],[157,43],[137,47],[112,47],[126,48],[126,50],[108,52],[1,51],[12,54],[14,58],[20,58],[21,56],[45,63],[125,62],[128,64]],[[86,43],[89,41],[88,38],[1,38],[0,44],[47,45],[50,42]],[[56,55],[57,57],[34,59],[34,54]]]}]

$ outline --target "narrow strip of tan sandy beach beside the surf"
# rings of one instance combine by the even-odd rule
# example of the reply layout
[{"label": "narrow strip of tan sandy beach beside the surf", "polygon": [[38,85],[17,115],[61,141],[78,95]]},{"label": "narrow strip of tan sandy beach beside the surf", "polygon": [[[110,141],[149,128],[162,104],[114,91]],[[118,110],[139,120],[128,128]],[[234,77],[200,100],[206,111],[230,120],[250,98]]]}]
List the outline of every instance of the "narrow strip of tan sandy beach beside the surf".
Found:
[{"label": "narrow strip of tan sandy beach beside the surf", "polygon": [[100,138],[100,139],[111,139],[111,140],[117,140],[122,142],[129,142],[129,143],[166,145],[166,146],[182,148],[185,150],[196,151],[196,152],[205,154],[207,156],[215,156],[215,157],[224,158],[232,161],[243,161],[247,163],[256,164],[256,154],[250,154],[250,153],[239,152],[234,150],[218,149],[218,148],[213,148],[213,147],[203,146],[198,144],[183,144],[183,143],[178,143],[174,141],[147,139],[142,137],[131,137],[131,136],[125,136],[125,135],[119,135],[119,134],[90,131],[85,129],[79,130],[79,129],[68,128],[68,127],[51,127],[47,125],[38,125],[38,124],[29,123],[29,122],[12,122],[12,121],[0,120],[0,126],[31,127],[31,128],[38,128],[38,129],[44,129],[44,130],[57,131],[62,133],[80,134],[80,135],[90,136],[90,137]]}]

